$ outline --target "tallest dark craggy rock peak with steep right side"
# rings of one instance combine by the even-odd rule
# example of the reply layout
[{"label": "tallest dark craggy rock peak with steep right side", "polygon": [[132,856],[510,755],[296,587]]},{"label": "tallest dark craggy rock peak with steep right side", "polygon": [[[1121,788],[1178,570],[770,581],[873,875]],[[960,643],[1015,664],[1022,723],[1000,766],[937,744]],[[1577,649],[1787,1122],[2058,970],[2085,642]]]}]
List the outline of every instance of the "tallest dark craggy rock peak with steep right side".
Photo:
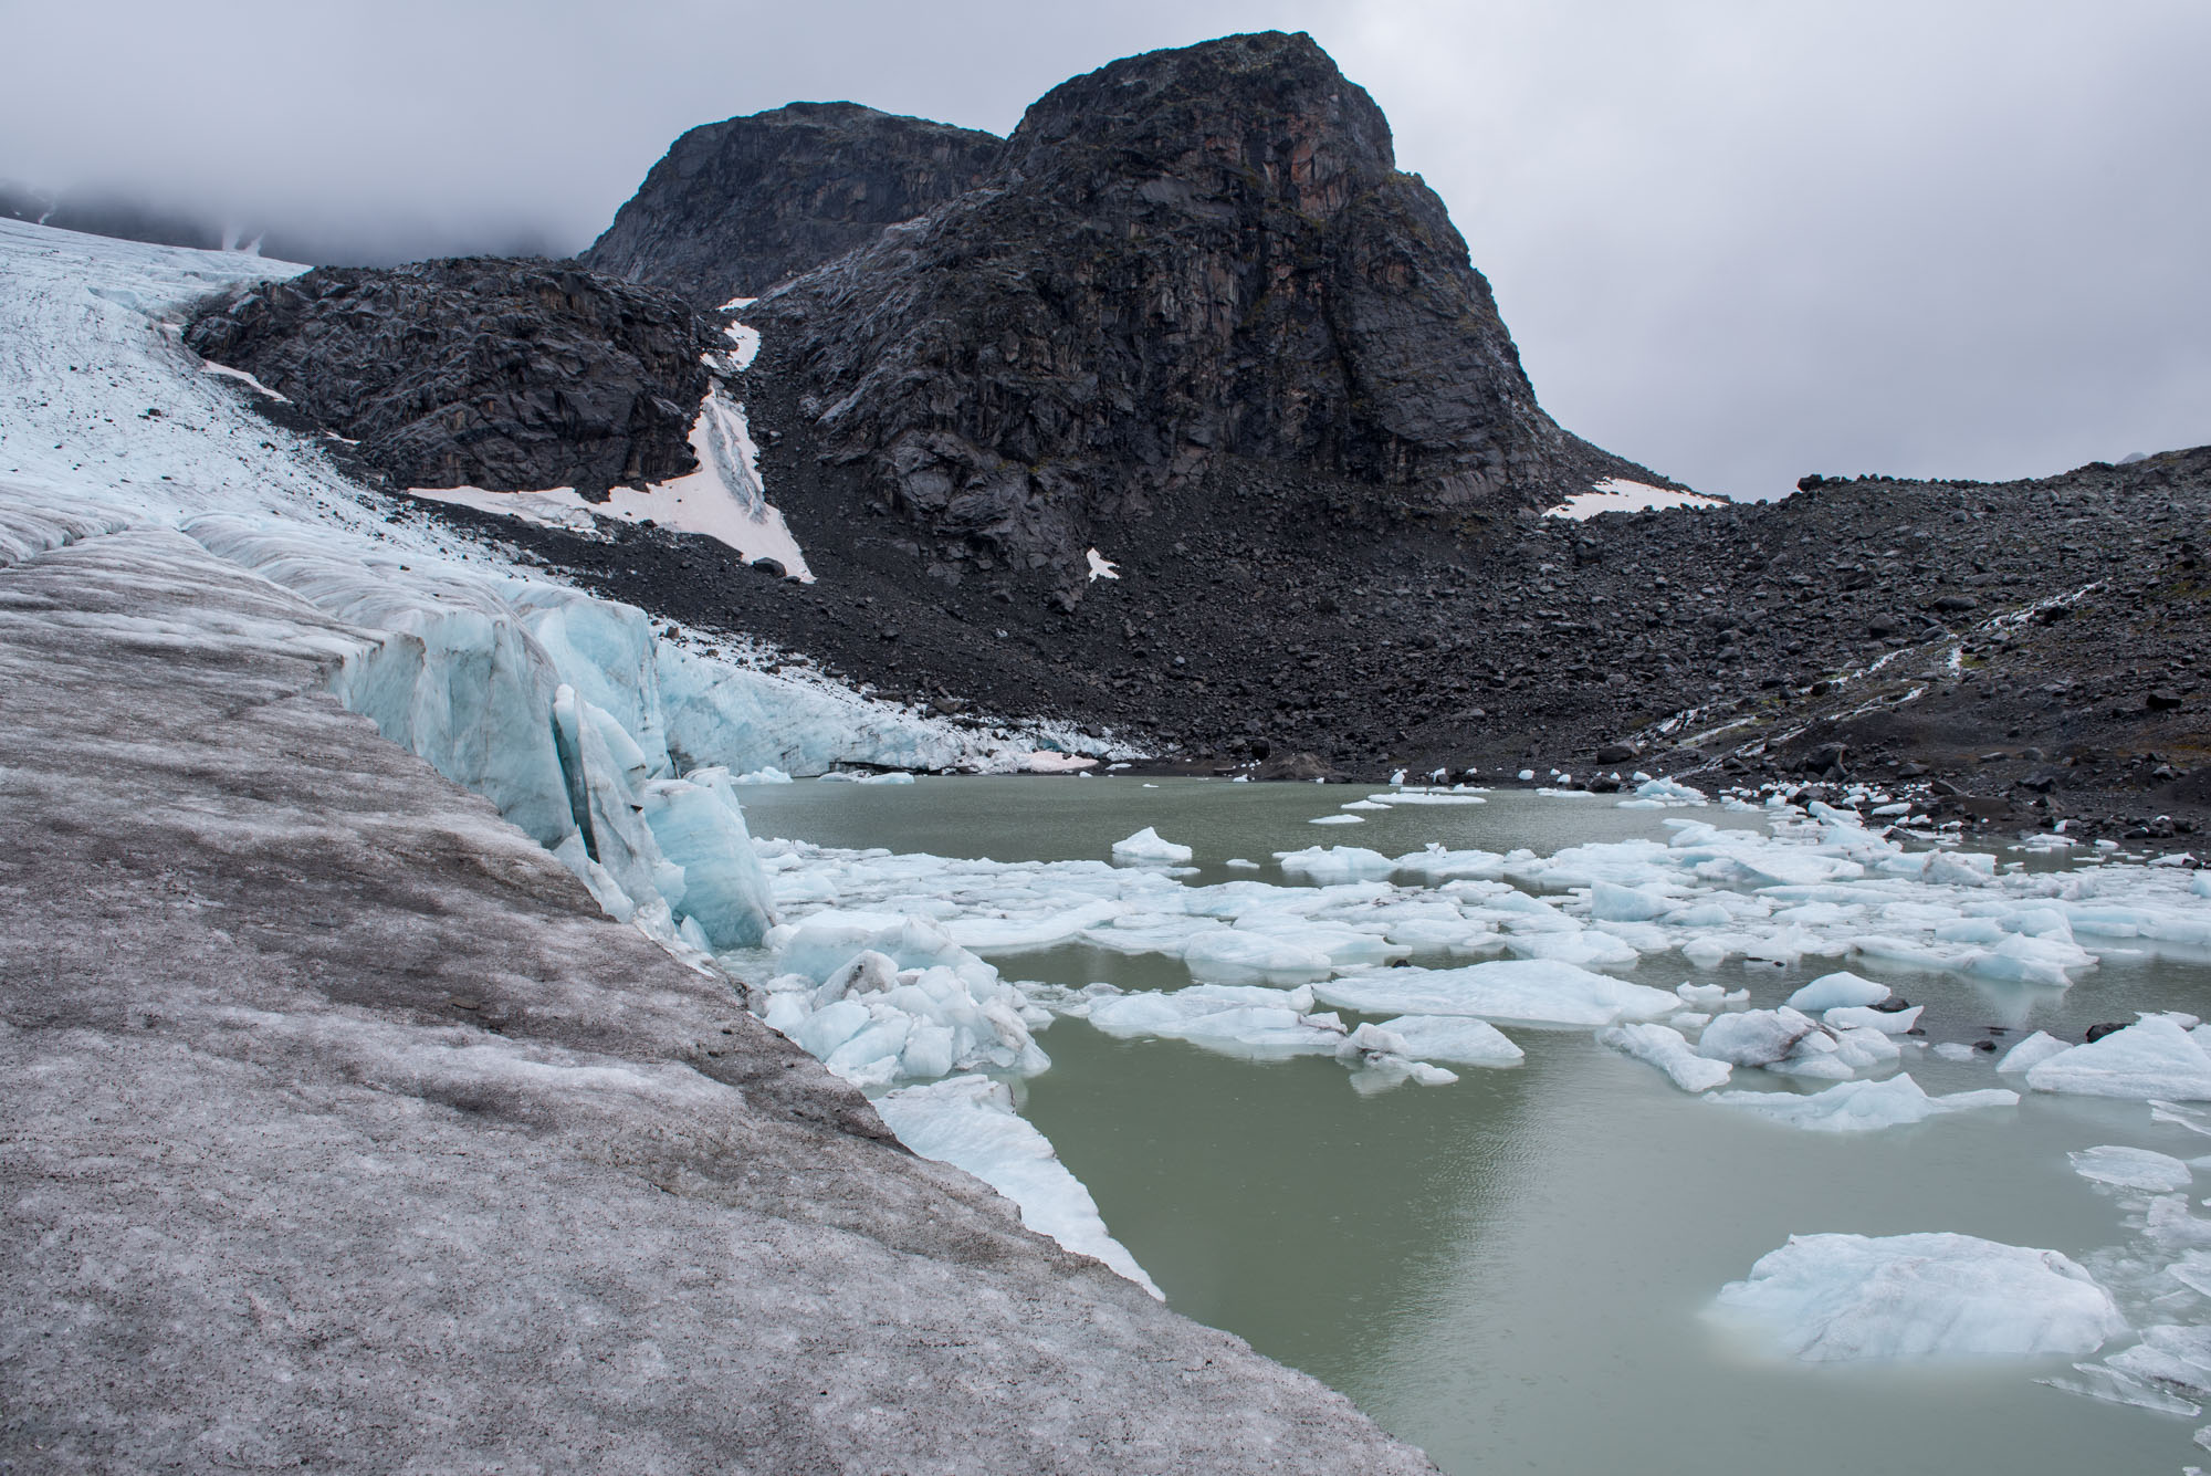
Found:
[{"label": "tallest dark craggy rock peak with steep right side", "polygon": [[1307,35],[1055,88],[982,188],[750,320],[827,460],[1017,566],[1072,574],[1090,524],[1223,457],[1446,510],[1654,479],[1537,407],[1442,201]]}]

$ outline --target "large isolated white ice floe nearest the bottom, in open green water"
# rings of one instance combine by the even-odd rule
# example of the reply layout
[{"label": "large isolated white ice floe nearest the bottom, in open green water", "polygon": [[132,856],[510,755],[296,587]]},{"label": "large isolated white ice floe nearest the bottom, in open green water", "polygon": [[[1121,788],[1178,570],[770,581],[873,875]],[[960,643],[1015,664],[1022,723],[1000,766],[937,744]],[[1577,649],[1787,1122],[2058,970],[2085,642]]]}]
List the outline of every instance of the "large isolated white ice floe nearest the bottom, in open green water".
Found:
[{"label": "large isolated white ice floe nearest the bottom, in open green water", "polygon": [[1977,1235],[1791,1235],[1716,1315],[1809,1363],[2081,1357],[2127,1330],[2056,1251]]}]

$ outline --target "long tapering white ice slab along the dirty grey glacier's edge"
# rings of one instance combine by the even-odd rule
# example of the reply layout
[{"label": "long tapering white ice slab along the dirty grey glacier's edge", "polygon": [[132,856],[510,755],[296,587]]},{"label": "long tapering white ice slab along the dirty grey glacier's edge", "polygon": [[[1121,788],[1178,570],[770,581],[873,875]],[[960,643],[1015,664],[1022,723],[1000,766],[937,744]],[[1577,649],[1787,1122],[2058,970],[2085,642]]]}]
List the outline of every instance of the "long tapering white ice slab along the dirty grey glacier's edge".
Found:
[{"label": "long tapering white ice slab along the dirty grey glacier's edge", "polygon": [[[1052,1145],[1013,1111],[1013,1094],[988,1076],[953,1076],[876,1098],[898,1140],[922,1158],[966,1169],[1021,1211],[1021,1224],[1077,1255],[1106,1262],[1161,1297],[1136,1257],[1106,1231],[1097,1200],[1068,1173]],[[1165,1297],[1161,1297],[1165,1299]]]}]

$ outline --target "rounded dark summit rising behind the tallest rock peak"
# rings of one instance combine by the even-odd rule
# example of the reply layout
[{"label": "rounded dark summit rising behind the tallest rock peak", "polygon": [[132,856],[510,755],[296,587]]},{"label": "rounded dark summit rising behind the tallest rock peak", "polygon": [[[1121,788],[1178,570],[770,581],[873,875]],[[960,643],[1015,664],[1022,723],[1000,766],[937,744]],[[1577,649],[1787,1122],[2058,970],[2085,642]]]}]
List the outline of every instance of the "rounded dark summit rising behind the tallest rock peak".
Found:
[{"label": "rounded dark summit rising behind the tallest rock peak", "polygon": [[1004,139],[851,102],[692,128],[579,256],[716,307],[862,247],[962,194]]}]

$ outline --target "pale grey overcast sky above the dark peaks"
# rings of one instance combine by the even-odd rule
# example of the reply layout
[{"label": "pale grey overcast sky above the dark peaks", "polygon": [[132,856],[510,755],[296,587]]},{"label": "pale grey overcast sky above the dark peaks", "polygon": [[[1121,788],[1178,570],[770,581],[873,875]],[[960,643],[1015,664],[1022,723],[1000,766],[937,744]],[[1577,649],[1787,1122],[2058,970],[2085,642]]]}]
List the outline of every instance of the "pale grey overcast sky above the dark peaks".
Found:
[{"label": "pale grey overcast sky above the dark peaks", "polygon": [[0,0],[0,179],[568,252],[692,124],[1006,133],[1267,27],[1375,95],[1543,404],[1621,455],[1771,497],[2211,442],[2204,0]]}]

